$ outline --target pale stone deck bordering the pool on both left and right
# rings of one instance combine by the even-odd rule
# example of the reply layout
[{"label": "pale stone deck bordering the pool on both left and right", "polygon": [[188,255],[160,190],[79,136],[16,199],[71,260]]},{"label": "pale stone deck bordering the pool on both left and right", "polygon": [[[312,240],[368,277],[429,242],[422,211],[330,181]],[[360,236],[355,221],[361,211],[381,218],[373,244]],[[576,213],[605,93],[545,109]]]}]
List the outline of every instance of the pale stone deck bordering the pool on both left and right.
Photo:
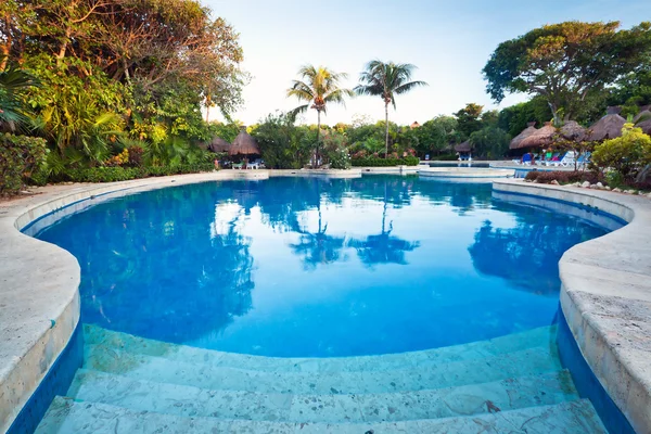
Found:
[{"label": "pale stone deck bordering the pool on both left and right", "polygon": [[[79,266],[62,248],[20,232],[92,196],[210,180],[303,176],[301,170],[222,170],[105,184],[52,186],[0,203],[0,432],[12,423],[79,321]],[[342,177],[357,170],[337,171]],[[333,176],[337,176],[334,174]],[[651,432],[651,201],[578,188],[496,181],[495,188],[583,203],[630,224],[579,244],[560,263],[561,304],[590,367],[640,433]]]}]

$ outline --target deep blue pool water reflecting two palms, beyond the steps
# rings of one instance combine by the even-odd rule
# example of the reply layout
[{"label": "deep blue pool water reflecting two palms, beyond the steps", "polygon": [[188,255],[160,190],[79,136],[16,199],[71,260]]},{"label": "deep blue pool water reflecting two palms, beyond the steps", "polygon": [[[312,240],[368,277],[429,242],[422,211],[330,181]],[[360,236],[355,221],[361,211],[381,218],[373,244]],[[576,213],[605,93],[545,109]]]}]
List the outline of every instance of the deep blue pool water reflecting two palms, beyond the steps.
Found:
[{"label": "deep blue pool water reflecting two palms, beyond the steps", "polygon": [[496,201],[490,184],[404,177],[206,182],[94,201],[35,234],[79,260],[85,322],[282,357],[548,326],[561,255],[607,232]]}]

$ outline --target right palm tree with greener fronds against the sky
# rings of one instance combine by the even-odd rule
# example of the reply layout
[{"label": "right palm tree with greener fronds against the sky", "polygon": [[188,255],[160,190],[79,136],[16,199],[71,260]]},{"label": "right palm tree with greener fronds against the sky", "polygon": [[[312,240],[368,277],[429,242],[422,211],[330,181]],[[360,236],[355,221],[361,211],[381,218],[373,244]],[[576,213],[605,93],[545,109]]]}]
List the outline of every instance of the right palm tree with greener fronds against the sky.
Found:
[{"label": "right palm tree with greener fronds against the sky", "polygon": [[366,71],[359,76],[360,85],[356,86],[357,94],[382,97],[384,100],[384,157],[388,155],[388,104],[396,108],[395,95],[407,93],[418,86],[427,86],[425,81],[409,81],[416,66],[410,63],[384,63],[378,60],[366,65]]}]

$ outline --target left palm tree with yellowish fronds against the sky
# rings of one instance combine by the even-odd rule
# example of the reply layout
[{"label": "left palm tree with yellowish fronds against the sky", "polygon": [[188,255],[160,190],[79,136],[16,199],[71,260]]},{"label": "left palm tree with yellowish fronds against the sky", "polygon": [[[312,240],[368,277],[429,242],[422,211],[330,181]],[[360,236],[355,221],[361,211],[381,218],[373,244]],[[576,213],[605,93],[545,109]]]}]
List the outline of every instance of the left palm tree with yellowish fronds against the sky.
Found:
[{"label": "left palm tree with yellowish fronds against the sky", "polygon": [[303,80],[293,80],[292,87],[288,89],[288,97],[295,97],[307,103],[291,111],[290,115],[295,117],[298,113],[304,113],[308,108],[317,111],[317,149],[315,156],[318,163],[321,112],[327,114],[326,106],[328,103],[345,104],[344,97],[354,97],[355,92],[339,87],[341,80],[348,77],[345,73],[335,73],[323,66],[316,68],[312,65],[305,65],[298,71],[298,75]]}]

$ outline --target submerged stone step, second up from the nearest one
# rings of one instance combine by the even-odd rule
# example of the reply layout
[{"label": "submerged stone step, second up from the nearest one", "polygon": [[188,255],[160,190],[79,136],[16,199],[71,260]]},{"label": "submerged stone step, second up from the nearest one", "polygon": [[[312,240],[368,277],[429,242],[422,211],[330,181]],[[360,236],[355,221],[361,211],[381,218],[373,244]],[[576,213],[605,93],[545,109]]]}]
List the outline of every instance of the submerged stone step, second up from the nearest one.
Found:
[{"label": "submerged stone step, second up from the nearest one", "polygon": [[449,418],[579,398],[566,371],[409,393],[294,395],[210,391],[79,370],[67,396],[184,417],[331,423]]}]

